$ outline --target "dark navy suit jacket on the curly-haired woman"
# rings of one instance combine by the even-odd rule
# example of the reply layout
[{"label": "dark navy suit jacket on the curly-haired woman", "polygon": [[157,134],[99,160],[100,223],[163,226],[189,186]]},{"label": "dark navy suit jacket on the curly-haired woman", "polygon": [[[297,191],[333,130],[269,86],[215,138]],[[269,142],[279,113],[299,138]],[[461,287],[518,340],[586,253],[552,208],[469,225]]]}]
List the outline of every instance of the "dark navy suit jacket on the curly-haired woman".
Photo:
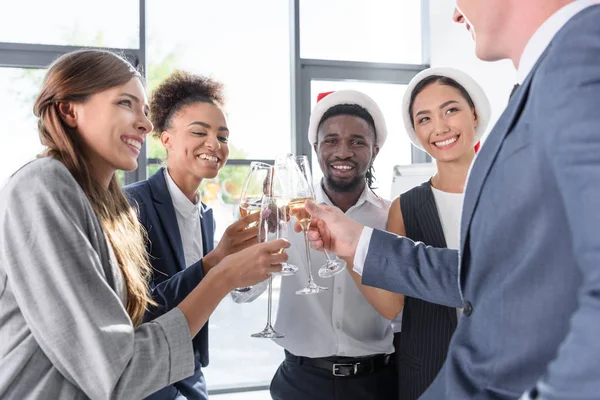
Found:
[{"label": "dark navy suit jacket on the curly-haired woman", "polygon": [[[138,210],[139,220],[148,232],[147,249],[153,268],[150,288],[152,298],[158,303],[146,315],[146,320],[152,320],[176,307],[198,285],[204,277],[202,260],[187,268],[185,266],[183,244],[164,168],[148,180],[125,186],[124,191],[132,206]],[[206,255],[214,248],[215,222],[212,209],[204,204],[200,214],[202,245]],[[176,383],[175,388],[166,388],[156,393],[152,399],[171,399],[170,393],[174,389],[185,396],[178,398],[206,398],[200,367],[208,365],[208,323],[194,337],[193,344],[197,361],[196,374]],[[201,385],[197,382],[199,378],[202,379]]]}]

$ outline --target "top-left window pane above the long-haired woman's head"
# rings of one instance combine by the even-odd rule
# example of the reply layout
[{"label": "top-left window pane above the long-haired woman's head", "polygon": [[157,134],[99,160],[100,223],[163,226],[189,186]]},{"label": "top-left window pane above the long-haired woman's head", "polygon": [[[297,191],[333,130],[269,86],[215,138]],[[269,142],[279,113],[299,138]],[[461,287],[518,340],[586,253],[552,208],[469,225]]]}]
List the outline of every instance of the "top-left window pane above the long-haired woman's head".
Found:
[{"label": "top-left window pane above the long-haired woman's head", "polygon": [[8,7],[0,13],[0,42],[139,47],[138,0],[12,1]]}]

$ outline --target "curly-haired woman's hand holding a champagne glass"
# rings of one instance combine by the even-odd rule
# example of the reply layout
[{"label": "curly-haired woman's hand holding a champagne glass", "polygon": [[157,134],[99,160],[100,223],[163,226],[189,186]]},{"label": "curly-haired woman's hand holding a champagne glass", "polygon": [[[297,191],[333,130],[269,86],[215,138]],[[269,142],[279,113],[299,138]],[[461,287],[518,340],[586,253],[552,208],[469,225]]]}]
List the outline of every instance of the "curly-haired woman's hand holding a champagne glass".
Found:
[{"label": "curly-haired woman's hand holding a champagne glass", "polygon": [[256,225],[259,215],[260,213],[247,215],[225,229],[217,247],[202,259],[204,273],[207,273],[228,255],[258,243],[258,227]]}]

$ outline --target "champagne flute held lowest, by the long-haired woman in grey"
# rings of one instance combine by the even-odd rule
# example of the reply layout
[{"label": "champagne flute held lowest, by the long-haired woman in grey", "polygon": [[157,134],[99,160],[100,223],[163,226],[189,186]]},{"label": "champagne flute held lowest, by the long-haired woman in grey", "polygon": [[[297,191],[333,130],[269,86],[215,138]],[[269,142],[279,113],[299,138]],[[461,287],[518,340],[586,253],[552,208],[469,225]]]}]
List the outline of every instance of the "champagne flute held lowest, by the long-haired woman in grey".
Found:
[{"label": "champagne flute held lowest, by the long-haired woman in grey", "polygon": [[[272,192],[270,192],[271,194]],[[277,197],[267,194],[263,197],[261,203],[260,221],[258,225],[258,239],[259,242],[267,242],[269,240],[275,240],[279,238],[287,238],[288,230],[288,206],[287,199],[283,197]],[[285,249],[281,249],[279,252],[283,253]],[[283,263],[284,267],[287,263]],[[288,267],[294,267],[298,270],[298,267],[288,264]],[[273,303],[273,275],[269,275],[268,284],[268,301],[267,301],[267,324],[265,328],[253,335],[255,338],[282,338],[285,335],[275,331],[271,325],[271,309]]]}]

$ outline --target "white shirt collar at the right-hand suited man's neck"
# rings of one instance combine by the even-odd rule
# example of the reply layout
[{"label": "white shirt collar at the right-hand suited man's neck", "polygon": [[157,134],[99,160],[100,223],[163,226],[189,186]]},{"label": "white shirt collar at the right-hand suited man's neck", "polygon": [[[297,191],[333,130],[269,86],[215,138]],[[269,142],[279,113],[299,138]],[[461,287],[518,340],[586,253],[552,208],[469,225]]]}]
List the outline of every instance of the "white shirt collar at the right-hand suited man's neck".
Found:
[{"label": "white shirt collar at the right-hand suited man's neck", "polygon": [[580,11],[600,4],[600,0],[576,0],[556,11],[548,18],[527,42],[517,69],[517,82],[522,84],[531,72],[542,53],[546,50],[554,36],[571,18]]}]

